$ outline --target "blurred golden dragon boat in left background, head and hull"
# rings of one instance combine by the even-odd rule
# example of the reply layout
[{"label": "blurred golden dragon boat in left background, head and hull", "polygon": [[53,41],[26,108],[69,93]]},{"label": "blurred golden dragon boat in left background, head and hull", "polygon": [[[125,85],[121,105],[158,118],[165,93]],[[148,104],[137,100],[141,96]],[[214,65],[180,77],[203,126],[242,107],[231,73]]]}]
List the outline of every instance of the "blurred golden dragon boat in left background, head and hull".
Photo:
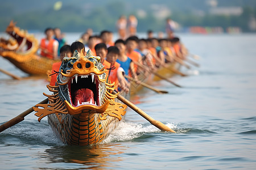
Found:
[{"label": "blurred golden dragon boat in left background, head and hull", "polygon": [[13,21],[6,28],[10,39],[0,39],[0,56],[6,58],[24,73],[31,75],[46,75],[52,69],[52,64],[59,60],[40,57],[38,40],[27,31],[15,26]]}]

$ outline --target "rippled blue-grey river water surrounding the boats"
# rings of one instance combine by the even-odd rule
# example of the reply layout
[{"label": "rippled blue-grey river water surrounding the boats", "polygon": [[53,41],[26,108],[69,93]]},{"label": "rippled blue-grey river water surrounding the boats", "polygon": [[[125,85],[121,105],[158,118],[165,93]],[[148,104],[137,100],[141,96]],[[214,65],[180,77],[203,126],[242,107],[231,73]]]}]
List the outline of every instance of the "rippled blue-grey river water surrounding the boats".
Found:
[{"label": "rippled blue-grey river water surrounding the boats", "polygon": [[[67,34],[69,43],[79,34]],[[164,133],[137,113],[104,143],[65,146],[34,114],[0,133],[0,169],[255,169],[256,35],[180,35],[200,67],[189,76],[153,86],[169,94],[142,90],[131,100],[177,131]],[[192,58],[191,58],[192,59]],[[0,58],[1,68],[27,74]],[[13,80],[0,73],[0,124],[49,94],[44,78]]]}]

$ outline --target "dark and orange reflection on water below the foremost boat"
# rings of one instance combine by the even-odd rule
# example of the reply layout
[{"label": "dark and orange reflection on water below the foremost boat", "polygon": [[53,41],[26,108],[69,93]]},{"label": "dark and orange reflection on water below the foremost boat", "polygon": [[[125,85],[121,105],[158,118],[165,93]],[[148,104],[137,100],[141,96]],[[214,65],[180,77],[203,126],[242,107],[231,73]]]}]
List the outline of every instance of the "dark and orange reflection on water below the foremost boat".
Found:
[{"label": "dark and orange reflection on water below the foremost boat", "polygon": [[115,167],[115,162],[124,158],[119,156],[125,153],[126,147],[120,143],[105,143],[92,146],[59,146],[46,149],[42,155],[48,163],[77,163],[83,164],[81,169],[106,169]]}]

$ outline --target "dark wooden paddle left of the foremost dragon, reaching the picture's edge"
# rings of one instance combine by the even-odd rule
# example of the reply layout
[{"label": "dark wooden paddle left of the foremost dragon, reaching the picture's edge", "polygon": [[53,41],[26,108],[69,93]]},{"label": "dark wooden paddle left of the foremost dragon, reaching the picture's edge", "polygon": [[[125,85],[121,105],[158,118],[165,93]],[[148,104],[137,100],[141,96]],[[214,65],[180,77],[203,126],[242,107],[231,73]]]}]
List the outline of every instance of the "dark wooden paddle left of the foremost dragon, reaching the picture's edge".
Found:
[{"label": "dark wooden paddle left of the foremost dragon, reaching the picture's edge", "polygon": [[[38,104],[46,104],[46,103],[48,103],[48,98],[44,99],[43,101],[41,101]],[[18,124],[21,121],[23,121],[24,117],[27,116],[28,114],[30,114],[33,111],[34,111],[34,109],[33,109],[33,107],[31,107],[31,108],[27,109],[26,111],[20,113],[18,116],[16,116],[16,117],[12,118],[11,120],[5,122],[5,124],[0,125],[0,132],[10,128],[13,125]]]}]

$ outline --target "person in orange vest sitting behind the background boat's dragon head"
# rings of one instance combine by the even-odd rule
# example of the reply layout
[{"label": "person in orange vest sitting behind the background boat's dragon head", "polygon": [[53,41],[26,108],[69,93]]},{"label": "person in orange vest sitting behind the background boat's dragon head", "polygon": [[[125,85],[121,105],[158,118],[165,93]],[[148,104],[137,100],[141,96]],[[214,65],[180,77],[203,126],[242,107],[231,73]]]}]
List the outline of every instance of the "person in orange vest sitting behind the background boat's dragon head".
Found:
[{"label": "person in orange vest sitting behind the background boat's dragon head", "polygon": [[58,46],[59,42],[53,39],[53,29],[46,28],[44,31],[46,37],[43,38],[40,42],[39,48],[41,49],[40,55],[42,57],[47,57],[49,59],[57,59],[58,58]]}]

